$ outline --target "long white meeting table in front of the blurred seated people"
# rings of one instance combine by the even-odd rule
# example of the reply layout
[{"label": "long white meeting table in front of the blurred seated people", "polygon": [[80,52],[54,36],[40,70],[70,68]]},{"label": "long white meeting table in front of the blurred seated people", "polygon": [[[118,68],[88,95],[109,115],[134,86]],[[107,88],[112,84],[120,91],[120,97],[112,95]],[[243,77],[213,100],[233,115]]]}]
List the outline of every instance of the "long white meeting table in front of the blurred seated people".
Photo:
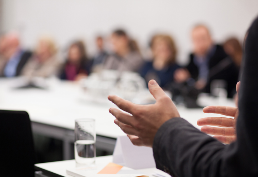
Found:
[{"label": "long white meeting table in front of the blurred seated people", "polygon": [[[108,112],[109,107],[116,107],[106,101],[99,103],[89,100],[79,84],[57,79],[48,81],[47,90],[37,88],[13,89],[17,79],[0,79],[0,109],[27,111],[32,121],[32,130],[38,134],[63,140],[64,160],[71,159],[71,147],[74,142],[74,120],[78,118],[94,118],[96,120],[98,149],[112,152],[116,138],[125,135],[113,123],[114,117]],[[221,104],[213,98],[200,100],[203,105]],[[232,101],[223,102],[234,106]],[[197,120],[207,115],[202,109],[178,107],[180,116],[188,120],[196,128]],[[209,115],[214,116],[214,115]]]}]

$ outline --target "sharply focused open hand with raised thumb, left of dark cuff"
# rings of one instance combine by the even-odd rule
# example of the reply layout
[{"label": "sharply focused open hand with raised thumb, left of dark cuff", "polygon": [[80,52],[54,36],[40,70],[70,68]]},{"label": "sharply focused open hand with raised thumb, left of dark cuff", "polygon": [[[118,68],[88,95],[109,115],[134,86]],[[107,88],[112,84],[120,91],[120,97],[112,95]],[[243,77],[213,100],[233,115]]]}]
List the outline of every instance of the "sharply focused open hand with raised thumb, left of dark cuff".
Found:
[{"label": "sharply focused open hand with raised thumb, left of dark cuff", "polygon": [[171,118],[179,117],[174,103],[155,80],[150,80],[149,90],[156,99],[155,104],[138,105],[114,95],[108,96],[108,99],[120,109],[131,114],[112,107],[109,109],[109,112],[116,117],[115,124],[137,146],[152,147],[155,134],[160,126]]}]

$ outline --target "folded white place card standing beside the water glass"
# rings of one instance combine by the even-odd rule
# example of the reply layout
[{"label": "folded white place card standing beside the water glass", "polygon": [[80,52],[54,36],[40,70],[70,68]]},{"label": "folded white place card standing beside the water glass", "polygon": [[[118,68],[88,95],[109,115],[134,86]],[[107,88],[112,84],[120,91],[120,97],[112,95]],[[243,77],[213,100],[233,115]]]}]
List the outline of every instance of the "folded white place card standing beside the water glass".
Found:
[{"label": "folded white place card standing beside the water glass", "polygon": [[132,169],[156,167],[152,148],[135,146],[127,136],[117,138],[113,162]]}]

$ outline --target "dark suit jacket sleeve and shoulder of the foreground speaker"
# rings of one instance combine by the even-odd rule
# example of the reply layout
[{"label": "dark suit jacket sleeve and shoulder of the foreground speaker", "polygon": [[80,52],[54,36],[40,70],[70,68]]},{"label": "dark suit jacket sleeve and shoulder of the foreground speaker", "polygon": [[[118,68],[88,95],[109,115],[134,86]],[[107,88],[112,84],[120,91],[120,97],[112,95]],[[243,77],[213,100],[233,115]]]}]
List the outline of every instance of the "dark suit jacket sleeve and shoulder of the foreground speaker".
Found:
[{"label": "dark suit jacket sleeve and shoulder of the foreground speaker", "polygon": [[258,19],[249,29],[245,52],[237,141],[224,145],[182,118],[170,119],[154,139],[157,168],[173,177],[258,176]]}]

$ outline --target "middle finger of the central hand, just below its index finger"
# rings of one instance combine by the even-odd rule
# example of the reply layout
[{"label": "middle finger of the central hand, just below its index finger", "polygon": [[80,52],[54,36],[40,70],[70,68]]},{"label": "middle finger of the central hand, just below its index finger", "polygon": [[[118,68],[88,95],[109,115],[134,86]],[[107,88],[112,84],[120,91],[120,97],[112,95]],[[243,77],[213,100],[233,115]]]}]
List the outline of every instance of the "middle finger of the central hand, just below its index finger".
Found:
[{"label": "middle finger of the central hand, just below its index finger", "polygon": [[127,113],[124,113],[116,108],[109,108],[108,110],[113,116],[117,118],[118,121],[122,122],[123,124],[127,124],[133,126],[134,118]]}]

